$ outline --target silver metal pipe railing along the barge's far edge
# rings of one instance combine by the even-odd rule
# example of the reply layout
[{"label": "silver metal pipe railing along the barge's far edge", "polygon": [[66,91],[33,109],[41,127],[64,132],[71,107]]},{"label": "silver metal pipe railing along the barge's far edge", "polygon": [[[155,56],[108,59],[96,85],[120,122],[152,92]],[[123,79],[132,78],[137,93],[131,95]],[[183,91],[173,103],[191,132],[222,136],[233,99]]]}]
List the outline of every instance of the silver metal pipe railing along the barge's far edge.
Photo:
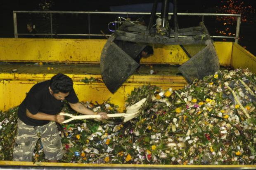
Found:
[{"label": "silver metal pipe railing along the barge's far edge", "polygon": [[[18,33],[17,30],[17,14],[18,13],[48,13],[50,14],[50,26],[51,26],[51,33],[46,34],[35,34],[35,35],[73,35],[73,36],[110,36],[110,35],[103,35],[103,34],[90,34],[90,14],[125,14],[126,19],[128,15],[150,15],[150,12],[83,12],[83,11],[13,11],[13,22],[14,22],[14,37],[18,38],[18,35],[30,35],[30,34],[21,34]],[[88,14],[88,34],[53,34],[52,33],[52,14]],[[173,13],[168,13],[169,15],[173,15]],[[160,13],[156,13],[156,15],[160,15]],[[235,37],[229,36],[211,36],[212,38],[234,38],[235,42],[238,43],[239,39],[239,32],[240,32],[240,23],[241,23],[241,15],[240,14],[208,14],[208,13],[178,13],[181,16],[201,16],[202,21],[204,21],[204,16],[230,16],[230,17],[237,17],[237,25],[236,25],[236,34]]]}]

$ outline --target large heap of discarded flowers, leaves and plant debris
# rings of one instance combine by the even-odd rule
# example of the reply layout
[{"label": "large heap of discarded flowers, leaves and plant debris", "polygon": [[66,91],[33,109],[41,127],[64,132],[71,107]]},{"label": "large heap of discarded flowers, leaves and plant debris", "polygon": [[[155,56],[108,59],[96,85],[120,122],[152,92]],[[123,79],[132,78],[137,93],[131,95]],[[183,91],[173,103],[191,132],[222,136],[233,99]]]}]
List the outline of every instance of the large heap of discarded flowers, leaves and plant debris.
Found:
[{"label": "large heap of discarded flowers, leaves and plant debris", "polygon": [[[255,164],[256,75],[220,70],[181,90],[145,85],[127,105],[147,98],[141,113],[121,118],[59,124],[64,157],[60,162],[126,164]],[[118,106],[83,103],[95,112],[117,113]],[[64,112],[78,114],[68,105]],[[17,107],[0,112],[0,160],[12,161]],[[33,161],[44,162],[38,141]]]}]

